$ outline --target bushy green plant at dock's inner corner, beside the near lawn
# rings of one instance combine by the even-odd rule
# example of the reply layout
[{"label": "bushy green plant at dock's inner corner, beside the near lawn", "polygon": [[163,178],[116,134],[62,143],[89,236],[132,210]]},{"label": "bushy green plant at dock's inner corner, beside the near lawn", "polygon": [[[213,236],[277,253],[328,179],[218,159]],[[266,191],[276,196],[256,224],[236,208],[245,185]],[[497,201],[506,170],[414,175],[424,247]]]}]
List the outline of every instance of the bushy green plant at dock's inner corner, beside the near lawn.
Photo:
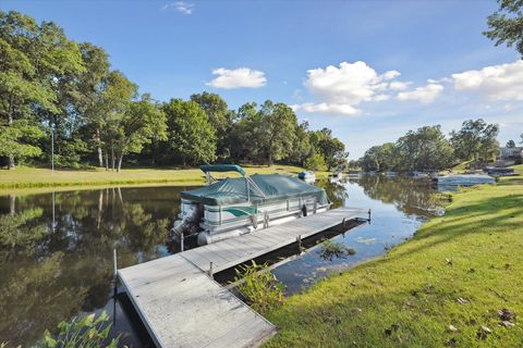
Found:
[{"label": "bushy green plant at dock's inner corner, beside the near lawn", "polygon": [[269,272],[268,265],[252,264],[234,270],[233,283],[240,283],[236,289],[245,297],[247,303],[258,313],[265,314],[283,303],[283,284]]}]

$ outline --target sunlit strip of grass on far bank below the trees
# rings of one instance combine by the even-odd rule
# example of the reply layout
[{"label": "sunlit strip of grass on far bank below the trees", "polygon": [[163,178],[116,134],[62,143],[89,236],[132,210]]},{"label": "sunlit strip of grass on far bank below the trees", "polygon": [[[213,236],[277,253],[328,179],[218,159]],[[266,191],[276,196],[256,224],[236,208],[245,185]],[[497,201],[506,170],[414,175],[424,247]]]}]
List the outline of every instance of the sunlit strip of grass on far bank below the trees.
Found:
[{"label": "sunlit strip of grass on far bank below the trees", "polygon": [[[245,165],[248,174],[288,173],[297,174],[303,171],[297,166]],[[228,173],[233,176],[234,174]],[[317,173],[318,176],[325,173]],[[219,175],[217,175],[219,176]],[[60,170],[54,174],[48,169],[17,167],[14,171],[0,170],[0,189],[59,187],[59,186],[96,186],[96,185],[130,185],[130,184],[171,184],[198,185],[204,177],[198,169],[132,169],[120,173],[105,170],[76,171]]]}]

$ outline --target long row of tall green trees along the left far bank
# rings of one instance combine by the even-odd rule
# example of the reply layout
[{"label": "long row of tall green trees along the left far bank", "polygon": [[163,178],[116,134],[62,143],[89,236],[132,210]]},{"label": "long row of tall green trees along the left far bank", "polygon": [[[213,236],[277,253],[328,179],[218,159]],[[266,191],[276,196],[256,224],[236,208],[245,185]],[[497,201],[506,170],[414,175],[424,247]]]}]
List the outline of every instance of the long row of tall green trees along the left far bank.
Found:
[{"label": "long row of tall green trees along the left far bank", "polygon": [[[53,145],[51,144],[53,138]],[[53,146],[53,151],[51,147]],[[52,22],[0,11],[0,158],[62,167],[278,161],[311,170],[346,162],[328,128],[312,130],[281,102],[229,109],[217,94],[159,102],[107,52],[75,42]]]}]

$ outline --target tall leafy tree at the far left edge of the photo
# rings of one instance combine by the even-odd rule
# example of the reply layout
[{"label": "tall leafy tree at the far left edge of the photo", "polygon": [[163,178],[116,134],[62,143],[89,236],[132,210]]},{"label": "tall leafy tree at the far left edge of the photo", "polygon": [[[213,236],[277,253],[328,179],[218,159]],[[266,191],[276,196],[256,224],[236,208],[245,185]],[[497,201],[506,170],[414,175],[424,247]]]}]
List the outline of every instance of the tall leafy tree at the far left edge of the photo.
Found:
[{"label": "tall leafy tree at the far left edge of the photo", "polygon": [[9,157],[9,169],[14,169],[15,157],[40,153],[35,146],[24,144],[27,138],[24,130],[36,133],[34,127],[27,127],[34,124],[31,122],[34,120],[33,105],[37,103],[42,109],[56,110],[56,96],[38,71],[41,65],[53,65],[51,52],[37,55],[33,48],[38,46],[38,40],[41,40],[41,32],[32,17],[0,11],[0,141],[2,154]]}]

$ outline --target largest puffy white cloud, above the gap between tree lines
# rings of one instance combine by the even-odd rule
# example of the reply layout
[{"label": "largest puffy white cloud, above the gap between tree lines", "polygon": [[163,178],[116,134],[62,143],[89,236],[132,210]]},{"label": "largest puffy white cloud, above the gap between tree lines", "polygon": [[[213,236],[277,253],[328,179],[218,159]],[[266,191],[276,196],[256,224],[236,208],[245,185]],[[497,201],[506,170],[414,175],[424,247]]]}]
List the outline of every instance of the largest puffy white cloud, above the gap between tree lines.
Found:
[{"label": "largest puffy white cloud, above the gap between tree lines", "polygon": [[356,115],[360,103],[387,100],[387,92],[405,89],[409,83],[394,80],[398,76],[394,70],[378,74],[362,61],[313,69],[307,71],[304,85],[319,102],[294,107],[311,113]]}]

